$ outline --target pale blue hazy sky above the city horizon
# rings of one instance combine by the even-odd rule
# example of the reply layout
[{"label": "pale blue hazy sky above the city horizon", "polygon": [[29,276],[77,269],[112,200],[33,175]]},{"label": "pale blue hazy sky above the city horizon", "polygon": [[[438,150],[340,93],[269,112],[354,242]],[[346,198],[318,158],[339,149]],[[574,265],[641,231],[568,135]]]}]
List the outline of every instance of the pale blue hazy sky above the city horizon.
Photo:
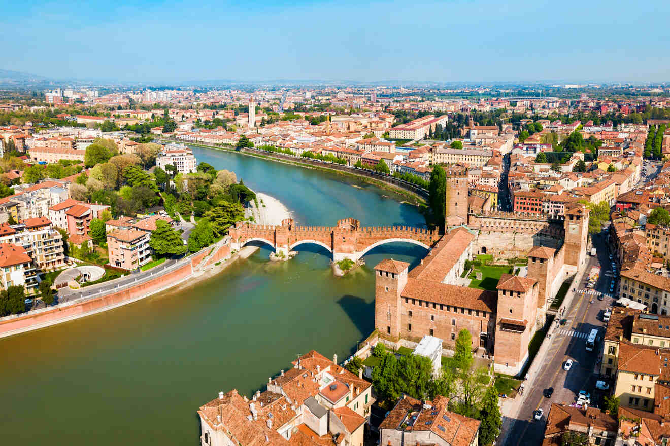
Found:
[{"label": "pale blue hazy sky above the city horizon", "polygon": [[187,82],[670,81],[670,2],[12,1],[0,68]]}]

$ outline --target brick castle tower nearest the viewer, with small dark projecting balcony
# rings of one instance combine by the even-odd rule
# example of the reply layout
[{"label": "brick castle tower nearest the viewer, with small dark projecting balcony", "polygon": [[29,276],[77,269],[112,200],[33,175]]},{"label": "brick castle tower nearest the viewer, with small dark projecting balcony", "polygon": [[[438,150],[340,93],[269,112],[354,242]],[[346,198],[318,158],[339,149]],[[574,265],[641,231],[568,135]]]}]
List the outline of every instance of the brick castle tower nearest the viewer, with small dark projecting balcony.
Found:
[{"label": "brick castle tower nearest the viewer, with small dark projecting balcony", "polygon": [[517,374],[528,358],[535,334],[537,282],[529,277],[503,274],[498,281],[496,312],[496,372]]}]

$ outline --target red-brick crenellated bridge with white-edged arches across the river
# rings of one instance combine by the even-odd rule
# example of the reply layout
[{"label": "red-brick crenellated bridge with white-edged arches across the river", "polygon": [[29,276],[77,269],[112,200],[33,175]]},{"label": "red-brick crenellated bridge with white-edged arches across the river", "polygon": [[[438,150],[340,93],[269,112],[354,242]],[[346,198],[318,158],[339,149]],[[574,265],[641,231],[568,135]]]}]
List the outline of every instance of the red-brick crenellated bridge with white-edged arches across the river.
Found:
[{"label": "red-brick crenellated bridge with white-edged arches across the river", "polygon": [[296,226],[292,219],[285,219],[277,226],[238,222],[235,227],[230,227],[228,233],[230,247],[234,250],[250,241],[263,241],[288,258],[288,253],[297,245],[314,243],[328,249],[334,261],[355,261],[371,249],[394,241],[429,249],[440,239],[437,230],[409,226],[360,227],[360,222],[355,219],[340,220],[336,227]]}]

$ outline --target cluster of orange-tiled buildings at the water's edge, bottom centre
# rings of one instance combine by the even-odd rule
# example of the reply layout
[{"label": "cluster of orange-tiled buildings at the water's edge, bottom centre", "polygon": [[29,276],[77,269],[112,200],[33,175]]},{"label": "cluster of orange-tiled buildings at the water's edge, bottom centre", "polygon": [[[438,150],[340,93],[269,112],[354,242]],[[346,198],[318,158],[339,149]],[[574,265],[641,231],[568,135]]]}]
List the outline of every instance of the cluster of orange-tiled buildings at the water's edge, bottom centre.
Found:
[{"label": "cluster of orange-tiled buildings at the water's edge, bottom centre", "polygon": [[198,410],[203,446],[362,446],[372,384],[312,350],[251,398],[220,392]]}]

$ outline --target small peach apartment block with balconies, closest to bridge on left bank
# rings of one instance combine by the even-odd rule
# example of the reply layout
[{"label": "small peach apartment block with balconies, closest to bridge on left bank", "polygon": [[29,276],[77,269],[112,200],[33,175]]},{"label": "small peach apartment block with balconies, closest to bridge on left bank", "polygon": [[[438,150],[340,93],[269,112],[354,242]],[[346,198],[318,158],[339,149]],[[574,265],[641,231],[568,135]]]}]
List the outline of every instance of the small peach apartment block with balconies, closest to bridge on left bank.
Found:
[{"label": "small peach apartment block with balconies, closest to bridge on left bank", "polygon": [[107,234],[109,264],[132,271],[151,261],[151,235],[135,229],[117,229]]}]

